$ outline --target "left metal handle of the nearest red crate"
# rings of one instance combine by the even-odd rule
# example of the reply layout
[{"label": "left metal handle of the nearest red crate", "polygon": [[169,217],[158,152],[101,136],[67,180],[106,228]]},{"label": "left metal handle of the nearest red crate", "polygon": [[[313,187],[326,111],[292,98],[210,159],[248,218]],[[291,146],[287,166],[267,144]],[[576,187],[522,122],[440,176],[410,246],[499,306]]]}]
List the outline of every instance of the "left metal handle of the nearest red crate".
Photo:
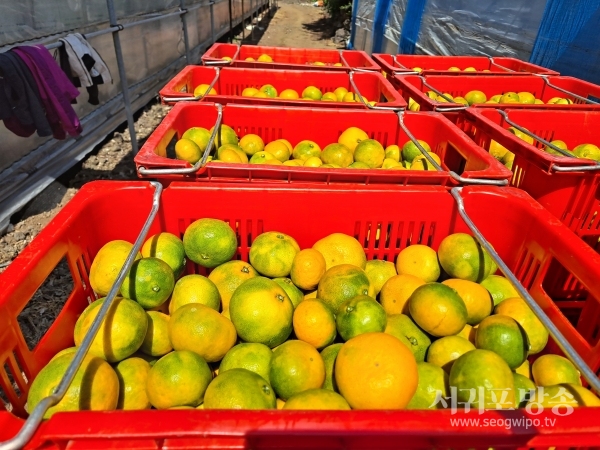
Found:
[{"label": "left metal handle of the nearest red crate", "polygon": [[121,288],[121,284],[123,284],[123,280],[125,280],[125,277],[129,273],[129,270],[131,269],[131,266],[135,261],[135,257],[140,251],[144,240],[146,239],[146,235],[148,234],[148,230],[150,229],[152,222],[154,222],[154,218],[156,217],[156,213],[158,212],[158,208],[160,206],[160,194],[162,192],[162,185],[155,181],[151,181],[150,185],[154,187],[154,194],[152,196],[152,208],[150,210],[150,213],[148,214],[148,218],[146,219],[146,222],[144,223],[140,234],[135,240],[133,248],[129,252],[129,255],[127,255],[127,259],[125,260],[123,267],[119,271],[115,283],[110,288],[106,299],[102,303],[102,306],[98,311],[98,315],[92,322],[92,325],[90,326],[85,337],[83,338],[81,346],[75,352],[75,357],[71,361],[71,364],[69,364],[67,371],[63,375],[58,386],[55,388],[54,393],[48,397],[45,397],[44,399],[42,399],[42,401],[40,401],[40,403],[37,404],[33,412],[29,415],[29,417],[23,424],[23,427],[19,430],[15,437],[8,441],[0,442],[0,450],[16,450],[23,448],[31,440],[36,430],[40,426],[40,423],[42,422],[46,411],[48,411],[50,407],[56,405],[66,394],[67,389],[71,385],[71,382],[73,381],[73,378],[77,373],[77,370],[83,362],[83,358],[85,358],[85,356],[87,355],[87,352],[92,344],[94,337],[98,333],[100,325],[102,325],[102,322],[104,321],[108,310],[110,309],[115,297],[117,296],[117,293]]}]

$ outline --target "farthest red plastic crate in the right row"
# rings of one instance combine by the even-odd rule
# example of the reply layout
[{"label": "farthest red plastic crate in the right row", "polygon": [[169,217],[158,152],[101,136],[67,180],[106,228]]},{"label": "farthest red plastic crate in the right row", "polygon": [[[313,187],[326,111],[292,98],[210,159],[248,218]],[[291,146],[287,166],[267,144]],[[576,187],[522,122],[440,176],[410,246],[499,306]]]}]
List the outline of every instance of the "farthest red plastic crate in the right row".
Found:
[{"label": "farthest red plastic crate in the right row", "polygon": [[[546,69],[517,58],[487,56],[429,56],[429,55],[388,55],[373,53],[373,59],[388,75],[402,72],[412,72],[413,67],[423,69],[426,75],[460,75],[464,72],[452,72],[450,67],[458,67],[461,71],[467,67],[477,69],[477,72],[467,72],[469,75],[560,75],[554,70]],[[482,72],[489,70],[490,72]]]}]

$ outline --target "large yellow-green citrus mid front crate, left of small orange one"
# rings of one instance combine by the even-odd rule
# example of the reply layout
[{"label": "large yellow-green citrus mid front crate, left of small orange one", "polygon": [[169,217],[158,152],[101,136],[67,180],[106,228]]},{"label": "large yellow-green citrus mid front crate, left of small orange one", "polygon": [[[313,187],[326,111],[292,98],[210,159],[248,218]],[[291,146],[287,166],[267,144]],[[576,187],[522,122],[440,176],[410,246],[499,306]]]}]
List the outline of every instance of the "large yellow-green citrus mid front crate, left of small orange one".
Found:
[{"label": "large yellow-green citrus mid front crate, left of small orange one", "polygon": [[264,277],[242,283],[229,303],[231,321],[239,337],[271,348],[291,334],[293,313],[294,305],[283,288]]}]

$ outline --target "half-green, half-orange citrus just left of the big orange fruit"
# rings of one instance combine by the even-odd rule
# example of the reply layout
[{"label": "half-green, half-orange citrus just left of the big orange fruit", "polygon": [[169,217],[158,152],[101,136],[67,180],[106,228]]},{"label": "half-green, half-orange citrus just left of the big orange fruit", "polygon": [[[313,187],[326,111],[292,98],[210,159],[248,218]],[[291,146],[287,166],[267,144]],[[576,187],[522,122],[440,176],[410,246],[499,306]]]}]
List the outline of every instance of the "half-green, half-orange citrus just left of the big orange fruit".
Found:
[{"label": "half-green, half-orange citrus just left of the big orange fruit", "polygon": [[312,345],[290,340],[273,350],[269,377],[277,396],[287,400],[299,392],[321,388],[325,363]]}]

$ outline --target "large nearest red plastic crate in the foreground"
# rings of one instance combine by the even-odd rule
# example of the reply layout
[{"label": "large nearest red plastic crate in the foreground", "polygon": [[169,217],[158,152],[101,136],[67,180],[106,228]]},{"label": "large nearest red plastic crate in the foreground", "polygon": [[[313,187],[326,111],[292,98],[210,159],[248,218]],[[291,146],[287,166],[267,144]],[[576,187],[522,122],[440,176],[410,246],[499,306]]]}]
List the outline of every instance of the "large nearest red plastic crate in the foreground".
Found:
[{"label": "large nearest red plastic crate in the foreground", "polygon": [[[0,441],[22,425],[29,383],[37,372],[53,354],[73,345],[75,321],[88,298],[93,298],[87,274],[95,254],[113,239],[133,242],[150,210],[152,194],[145,182],[85,185],[0,274],[0,386],[13,406],[13,413],[0,412]],[[477,227],[597,370],[600,256],[520,190],[468,187],[462,196]],[[257,208],[266,204],[265,199],[268,207]],[[290,234],[302,248],[332,232],[347,233],[363,244],[368,259],[389,261],[407,245],[422,243],[437,249],[449,233],[468,232],[454,199],[440,187],[306,190],[302,185],[289,189],[173,183],[163,192],[149,235],[168,231],[182,236],[190,223],[202,217],[231,225],[240,243],[237,257],[243,260],[252,240],[272,230]],[[319,220],[307,221],[307,217]],[[29,350],[17,315],[63,257],[75,287],[46,335]],[[558,285],[559,269],[569,274],[570,283]],[[206,274],[191,263],[187,271]],[[573,298],[577,281],[589,292],[587,297]],[[550,289],[555,291],[554,302],[547,294]],[[555,350],[552,342],[549,346]],[[7,382],[6,363],[16,374],[21,396]],[[17,363],[28,381],[20,376]],[[549,411],[534,416],[524,410],[481,415],[478,411],[453,415],[450,410],[72,412],[55,414],[44,422],[27,448],[396,449],[399,442],[406,449],[572,448],[598,444],[599,417],[600,408],[583,407],[564,417]],[[456,418],[487,420],[489,426],[453,426],[451,419]],[[537,418],[542,425],[507,428],[490,423],[506,418]],[[548,419],[556,423],[544,426]]]}]

